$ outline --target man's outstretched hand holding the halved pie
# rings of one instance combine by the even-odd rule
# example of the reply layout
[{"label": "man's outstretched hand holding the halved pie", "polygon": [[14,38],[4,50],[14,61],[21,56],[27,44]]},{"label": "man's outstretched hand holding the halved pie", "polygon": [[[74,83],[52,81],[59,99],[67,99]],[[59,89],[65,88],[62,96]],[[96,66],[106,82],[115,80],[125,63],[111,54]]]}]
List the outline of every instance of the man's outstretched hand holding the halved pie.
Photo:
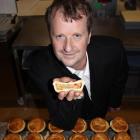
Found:
[{"label": "man's outstretched hand holding the halved pie", "polygon": [[[70,77],[61,77],[61,78],[55,78],[53,81],[59,81],[59,82],[74,82],[76,81],[75,79],[72,79]],[[76,100],[76,99],[80,99],[83,97],[83,91],[62,91],[59,92],[58,94],[58,98],[59,100],[63,100],[64,98],[66,98],[68,101],[72,101],[72,100]]]}]

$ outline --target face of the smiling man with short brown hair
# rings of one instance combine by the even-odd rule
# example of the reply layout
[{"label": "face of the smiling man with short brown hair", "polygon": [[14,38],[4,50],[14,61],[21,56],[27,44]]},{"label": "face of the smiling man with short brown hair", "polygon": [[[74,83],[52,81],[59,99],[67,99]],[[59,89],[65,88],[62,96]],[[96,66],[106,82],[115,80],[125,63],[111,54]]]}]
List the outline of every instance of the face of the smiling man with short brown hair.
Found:
[{"label": "face of the smiling man with short brown hair", "polygon": [[58,10],[51,22],[51,40],[56,57],[74,69],[83,69],[86,64],[86,49],[91,33],[87,30],[87,18],[65,21]]}]

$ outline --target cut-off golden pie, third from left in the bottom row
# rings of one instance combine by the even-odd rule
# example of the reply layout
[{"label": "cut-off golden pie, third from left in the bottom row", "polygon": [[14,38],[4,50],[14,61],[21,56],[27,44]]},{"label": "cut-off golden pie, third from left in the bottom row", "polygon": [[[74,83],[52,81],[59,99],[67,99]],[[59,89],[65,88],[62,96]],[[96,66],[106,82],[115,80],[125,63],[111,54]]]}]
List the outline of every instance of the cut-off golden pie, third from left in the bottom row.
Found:
[{"label": "cut-off golden pie, third from left in the bottom row", "polygon": [[52,133],[46,140],[65,140],[65,137],[61,133]]}]

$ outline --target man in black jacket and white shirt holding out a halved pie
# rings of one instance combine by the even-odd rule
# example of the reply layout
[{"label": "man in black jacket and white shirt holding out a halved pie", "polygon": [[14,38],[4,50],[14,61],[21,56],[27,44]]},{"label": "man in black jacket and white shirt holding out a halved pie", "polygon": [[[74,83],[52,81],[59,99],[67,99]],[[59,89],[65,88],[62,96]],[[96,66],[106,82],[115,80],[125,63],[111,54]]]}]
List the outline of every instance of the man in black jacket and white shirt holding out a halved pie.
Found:
[{"label": "man in black jacket and white shirt holding out a halved pie", "polygon": [[[92,10],[86,0],[54,0],[46,12],[51,45],[28,58],[29,75],[46,96],[52,123],[72,129],[79,117],[105,117],[121,104],[127,60],[119,40],[92,34]],[[83,79],[82,92],[56,93],[53,81]]]}]

